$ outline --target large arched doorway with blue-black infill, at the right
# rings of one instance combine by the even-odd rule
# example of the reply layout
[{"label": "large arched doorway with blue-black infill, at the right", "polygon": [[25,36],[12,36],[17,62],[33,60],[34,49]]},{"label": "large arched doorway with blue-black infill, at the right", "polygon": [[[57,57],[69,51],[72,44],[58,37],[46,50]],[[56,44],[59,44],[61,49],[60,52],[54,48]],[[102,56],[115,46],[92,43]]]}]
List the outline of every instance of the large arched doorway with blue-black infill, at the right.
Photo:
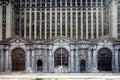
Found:
[{"label": "large arched doorway with blue-black infill, at the right", "polygon": [[107,48],[98,51],[98,70],[112,71],[112,52]]}]

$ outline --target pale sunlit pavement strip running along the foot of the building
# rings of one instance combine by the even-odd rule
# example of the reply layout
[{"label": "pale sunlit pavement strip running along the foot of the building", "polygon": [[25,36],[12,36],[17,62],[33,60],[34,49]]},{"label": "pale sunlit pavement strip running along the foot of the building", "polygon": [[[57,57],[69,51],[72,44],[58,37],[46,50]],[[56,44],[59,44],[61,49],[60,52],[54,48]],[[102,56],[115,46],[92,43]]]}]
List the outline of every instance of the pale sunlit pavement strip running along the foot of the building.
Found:
[{"label": "pale sunlit pavement strip running along the foot of the building", "polygon": [[100,79],[120,80],[120,73],[0,73],[0,79],[3,78],[62,78],[62,79]]}]

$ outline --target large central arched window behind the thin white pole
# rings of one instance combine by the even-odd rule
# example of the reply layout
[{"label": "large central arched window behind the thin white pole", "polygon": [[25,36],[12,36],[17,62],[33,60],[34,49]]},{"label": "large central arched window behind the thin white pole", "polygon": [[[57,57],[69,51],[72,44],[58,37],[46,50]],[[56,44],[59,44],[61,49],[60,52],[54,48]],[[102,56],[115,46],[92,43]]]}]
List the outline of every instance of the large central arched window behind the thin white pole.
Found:
[{"label": "large central arched window behind the thin white pole", "polygon": [[68,51],[64,48],[59,48],[54,54],[54,65],[55,66],[68,66]]}]

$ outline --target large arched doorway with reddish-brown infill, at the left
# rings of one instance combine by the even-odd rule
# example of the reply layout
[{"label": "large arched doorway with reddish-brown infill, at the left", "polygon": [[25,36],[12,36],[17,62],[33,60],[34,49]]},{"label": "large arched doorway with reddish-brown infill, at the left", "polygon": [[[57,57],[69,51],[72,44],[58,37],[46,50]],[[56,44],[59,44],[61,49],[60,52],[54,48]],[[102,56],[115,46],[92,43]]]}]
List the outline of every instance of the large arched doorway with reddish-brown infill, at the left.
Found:
[{"label": "large arched doorway with reddish-brown infill, at the left", "polygon": [[12,71],[25,70],[25,51],[21,48],[16,48],[12,51]]}]

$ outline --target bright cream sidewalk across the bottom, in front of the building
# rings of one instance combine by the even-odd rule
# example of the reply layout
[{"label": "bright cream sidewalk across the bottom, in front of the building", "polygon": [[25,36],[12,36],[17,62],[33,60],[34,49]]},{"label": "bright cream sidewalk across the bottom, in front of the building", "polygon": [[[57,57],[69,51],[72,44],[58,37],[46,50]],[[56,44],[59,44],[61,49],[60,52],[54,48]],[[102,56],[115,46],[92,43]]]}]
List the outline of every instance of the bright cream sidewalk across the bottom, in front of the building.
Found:
[{"label": "bright cream sidewalk across the bottom, in front of the building", "polygon": [[120,80],[120,73],[10,73],[1,74],[0,80]]}]

